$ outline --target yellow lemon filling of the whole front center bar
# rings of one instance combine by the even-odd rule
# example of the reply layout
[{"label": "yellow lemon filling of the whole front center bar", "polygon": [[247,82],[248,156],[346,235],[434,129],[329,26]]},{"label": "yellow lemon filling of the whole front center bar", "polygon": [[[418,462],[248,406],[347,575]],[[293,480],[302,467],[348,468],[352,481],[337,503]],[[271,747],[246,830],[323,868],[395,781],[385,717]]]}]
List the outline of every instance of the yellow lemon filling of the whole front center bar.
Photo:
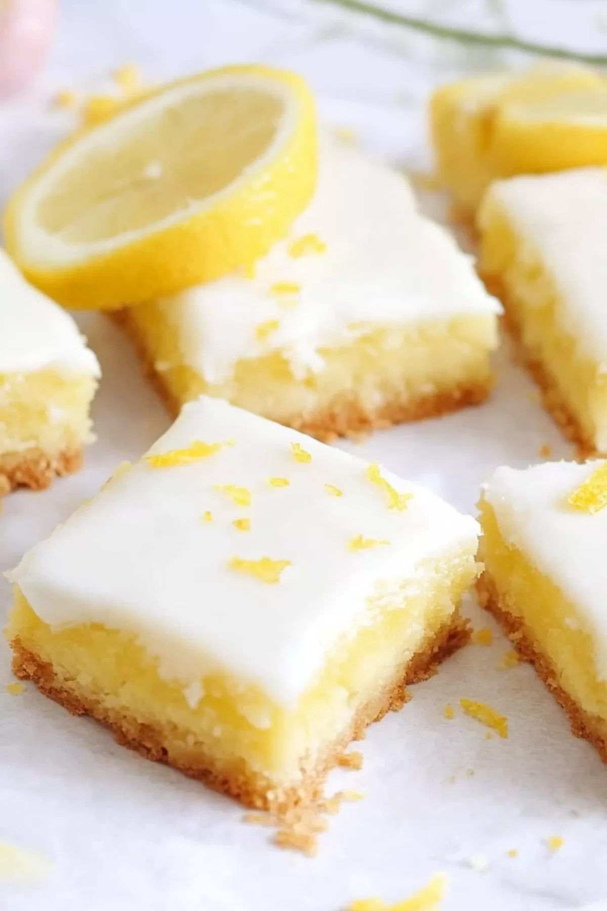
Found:
[{"label": "yellow lemon filling of the whole front center bar", "polygon": [[379,584],[364,622],[339,641],[292,707],[217,671],[187,685],[164,679],[137,636],[99,624],[53,630],[18,587],[6,635],[51,665],[54,685],[86,711],[109,723],[142,725],[139,736],[146,727],[153,731],[169,763],[197,768],[203,755],[219,773],[240,764],[267,786],[282,786],[322,763],[359,710],[375,701],[379,710],[410,660],[450,625],[475,576],[474,554],[463,549],[426,561],[414,582],[386,590]]}]

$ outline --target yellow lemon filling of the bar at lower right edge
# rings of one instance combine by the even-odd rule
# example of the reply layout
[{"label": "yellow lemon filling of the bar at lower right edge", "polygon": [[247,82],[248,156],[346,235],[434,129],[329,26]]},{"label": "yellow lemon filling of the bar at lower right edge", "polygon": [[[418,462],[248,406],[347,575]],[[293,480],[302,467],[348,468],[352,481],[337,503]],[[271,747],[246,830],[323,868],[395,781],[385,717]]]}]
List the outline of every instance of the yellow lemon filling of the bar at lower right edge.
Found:
[{"label": "yellow lemon filling of the bar at lower right edge", "polygon": [[524,621],[526,635],[551,661],[561,688],[583,711],[607,720],[607,681],[597,677],[592,630],[558,586],[504,540],[490,504],[481,500],[480,508],[480,559],[501,608]]}]

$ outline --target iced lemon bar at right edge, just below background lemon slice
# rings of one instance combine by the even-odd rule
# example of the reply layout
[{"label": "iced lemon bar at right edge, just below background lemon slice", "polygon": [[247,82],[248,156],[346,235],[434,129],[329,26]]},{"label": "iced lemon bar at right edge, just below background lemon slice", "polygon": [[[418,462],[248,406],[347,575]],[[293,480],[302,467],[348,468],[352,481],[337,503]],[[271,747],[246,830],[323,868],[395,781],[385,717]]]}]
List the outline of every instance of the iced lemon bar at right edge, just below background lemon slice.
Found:
[{"label": "iced lemon bar at right edge, just below background lemon slice", "polygon": [[582,454],[607,452],[607,170],[494,183],[480,269],[544,404]]}]

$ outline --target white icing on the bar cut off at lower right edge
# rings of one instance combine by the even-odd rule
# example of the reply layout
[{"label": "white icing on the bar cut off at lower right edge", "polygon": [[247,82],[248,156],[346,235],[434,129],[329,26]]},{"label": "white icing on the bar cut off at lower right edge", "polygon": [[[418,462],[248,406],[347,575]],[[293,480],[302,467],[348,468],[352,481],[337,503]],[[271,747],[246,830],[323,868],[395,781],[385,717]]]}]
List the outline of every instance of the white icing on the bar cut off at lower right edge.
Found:
[{"label": "white icing on the bar cut off at lower right edge", "polygon": [[501,537],[561,589],[592,631],[596,670],[607,680],[607,508],[592,515],[568,497],[601,462],[552,462],[524,471],[502,467],[484,497]]}]

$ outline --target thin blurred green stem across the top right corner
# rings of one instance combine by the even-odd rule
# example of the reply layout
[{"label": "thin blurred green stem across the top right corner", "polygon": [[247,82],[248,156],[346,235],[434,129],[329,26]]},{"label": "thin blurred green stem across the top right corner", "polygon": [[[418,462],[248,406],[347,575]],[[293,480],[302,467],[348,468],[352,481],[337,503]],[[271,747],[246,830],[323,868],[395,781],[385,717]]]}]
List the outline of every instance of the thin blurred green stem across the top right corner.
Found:
[{"label": "thin blurred green stem across the top right corner", "polygon": [[422,32],[425,35],[430,35],[435,38],[442,38],[447,41],[458,41],[460,44],[525,51],[528,54],[542,54],[545,56],[559,57],[561,60],[577,60],[578,62],[592,64],[596,67],[607,66],[607,55],[604,54],[578,54],[575,51],[567,50],[565,47],[538,45],[532,41],[524,41],[521,38],[510,35],[483,35],[481,32],[469,32],[464,28],[440,26],[439,23],[428,22],[425,19],[417,19],[415,16],[394,13],[382,6],[363,3],[362,0],[315,0],[315,2],[340,6],[342,9],[350,10],[353,13],[373,16],[376,19],[380,19],[382,22],[387,22],[393,26],[410,28],[416,32]]}]

